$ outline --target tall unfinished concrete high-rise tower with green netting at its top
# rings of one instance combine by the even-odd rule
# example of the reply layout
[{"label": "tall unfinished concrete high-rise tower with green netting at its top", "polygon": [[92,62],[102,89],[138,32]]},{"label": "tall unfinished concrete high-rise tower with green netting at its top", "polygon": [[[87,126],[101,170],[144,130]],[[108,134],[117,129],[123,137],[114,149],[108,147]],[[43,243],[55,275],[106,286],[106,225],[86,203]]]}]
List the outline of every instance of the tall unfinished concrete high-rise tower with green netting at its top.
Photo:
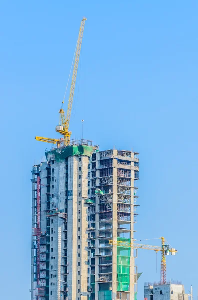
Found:
[{"label": "tall unfinished concrete high-rise tower with green netting at its top", "polygon": [[88,141],[32,168],[31,300],[133,300],[138,153]]}]

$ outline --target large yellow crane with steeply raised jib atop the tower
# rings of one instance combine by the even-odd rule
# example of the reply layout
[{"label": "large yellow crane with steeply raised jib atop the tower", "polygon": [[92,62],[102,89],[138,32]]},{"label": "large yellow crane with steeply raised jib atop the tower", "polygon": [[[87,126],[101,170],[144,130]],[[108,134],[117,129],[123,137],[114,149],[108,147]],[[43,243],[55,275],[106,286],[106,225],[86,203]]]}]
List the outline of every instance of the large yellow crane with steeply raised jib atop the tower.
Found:
[{"label": "large yellow crane with steeply raised jib atop the tower", "polygon": [[79,30],[78,41],[77,41],[77,46],[76,46],[75,61],[74,61],[72,79],[71,79],[71,88],[70,88],[70,93],[69,93],[69,101],[68,101],[66,116],[65,116],[65,111],[63,110],[64,100],[62,101],[62,107],[59,110],[60,121],[59,121],[59,125],[56,126],[56,132],[63,135],[63,138],[53,139],[53,138],[41,137],[41,136],[35,137],[35,139],[39,140],[39,141],[57,144],[58,148],[60,147],[61,143],[63,143],[65,146],[70,144],[71,131],[69,131],[69,122],[70,122],[70,117],[71,117],[71,108],[72,108],[73,97],[74,97],[74,90],[75,90],[75,84],[76,84],[76,77],[77,77],[77,71],[78,71],[78,63],[79,63],[80,49],[81,49],[81,44],[82,44],[82,37],[83,37],[85,21],[86,21],[86,18],[83,17],[83,19],[80,23],[80,30]]}]

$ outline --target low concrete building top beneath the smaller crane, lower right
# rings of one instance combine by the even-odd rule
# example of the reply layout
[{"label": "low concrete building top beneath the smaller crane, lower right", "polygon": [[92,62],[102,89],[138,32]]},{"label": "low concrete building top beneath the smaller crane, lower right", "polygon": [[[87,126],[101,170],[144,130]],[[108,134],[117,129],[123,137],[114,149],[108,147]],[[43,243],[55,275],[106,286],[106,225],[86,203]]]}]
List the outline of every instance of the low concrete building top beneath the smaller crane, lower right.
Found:
[{"label": "low concrete building top beneath the smaller crane, lower right", "polygon": [[191,293],[185,294],[182,282],[170,280],[166,284],[145,282],[144,300],[192,300]]}]

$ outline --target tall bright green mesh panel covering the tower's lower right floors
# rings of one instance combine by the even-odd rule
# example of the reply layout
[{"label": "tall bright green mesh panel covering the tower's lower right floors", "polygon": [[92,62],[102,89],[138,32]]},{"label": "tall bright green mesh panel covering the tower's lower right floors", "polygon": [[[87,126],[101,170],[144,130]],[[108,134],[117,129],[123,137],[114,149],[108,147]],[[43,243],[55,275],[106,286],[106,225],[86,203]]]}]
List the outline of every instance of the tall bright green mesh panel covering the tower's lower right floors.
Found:
[{"label": "tall bright green mesh panel covering the tower's lower right floors", "polygon": [[[117,241],[131,242],[130,238],[122,237],[118,237]],[[130,247],[117,246],[117,291],[129,291],[130,255]]]}]

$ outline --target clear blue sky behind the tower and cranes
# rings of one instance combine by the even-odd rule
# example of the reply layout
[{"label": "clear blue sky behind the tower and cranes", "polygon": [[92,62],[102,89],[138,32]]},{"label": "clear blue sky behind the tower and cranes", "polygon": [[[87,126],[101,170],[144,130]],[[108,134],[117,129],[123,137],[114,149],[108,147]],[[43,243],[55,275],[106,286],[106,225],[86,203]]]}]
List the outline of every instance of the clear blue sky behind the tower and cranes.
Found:
[{"label": "clear blue sky behind the tower and cranes", "polygon": [[[198,285],[198,1],[0,1],[0,298],[30,299],[31,167],[57,138],[80,21],[70,129],[140,153],[137,239],[165,236],[167,279]],[[68,99],[68,94],[67,94]],[[147,241],[160,245],[159,240]],[[160,254],[139,250],[138,299]]]}]

